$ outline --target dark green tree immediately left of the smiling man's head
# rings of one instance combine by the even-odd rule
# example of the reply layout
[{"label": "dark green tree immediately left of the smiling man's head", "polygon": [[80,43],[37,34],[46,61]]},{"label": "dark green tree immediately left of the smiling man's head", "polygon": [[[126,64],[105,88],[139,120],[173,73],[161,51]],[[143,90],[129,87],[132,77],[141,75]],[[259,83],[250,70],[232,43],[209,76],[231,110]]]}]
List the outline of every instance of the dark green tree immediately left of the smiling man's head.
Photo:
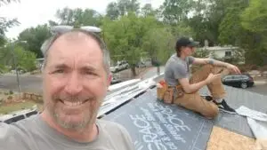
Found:
[{"label": "dark green tree immediately left of the smiling man's head", "polygon": [[27,43],[21,43],[20,45],[27,51],[35,52],[37,58],[43,58],[40,48],[44,40],[50,36],[50,28],[46,24],[39,25],[36,28],[27,28],[19,35],[19,40],[27,41]]}]

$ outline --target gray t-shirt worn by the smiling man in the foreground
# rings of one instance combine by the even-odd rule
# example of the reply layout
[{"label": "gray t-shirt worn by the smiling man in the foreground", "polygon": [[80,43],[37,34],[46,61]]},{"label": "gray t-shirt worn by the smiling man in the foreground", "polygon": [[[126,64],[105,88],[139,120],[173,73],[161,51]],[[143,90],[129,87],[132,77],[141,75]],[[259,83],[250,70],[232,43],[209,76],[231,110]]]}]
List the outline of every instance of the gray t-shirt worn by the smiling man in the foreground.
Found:
[{"label": "gray t-shirt worn by the smiling man in the foreground", "polygon": [[51,128],[40,115],[13,124],[0,122],[0,150],[134,150],[124,127],[103,120],[97,125],[98,137],[79,143]]}]

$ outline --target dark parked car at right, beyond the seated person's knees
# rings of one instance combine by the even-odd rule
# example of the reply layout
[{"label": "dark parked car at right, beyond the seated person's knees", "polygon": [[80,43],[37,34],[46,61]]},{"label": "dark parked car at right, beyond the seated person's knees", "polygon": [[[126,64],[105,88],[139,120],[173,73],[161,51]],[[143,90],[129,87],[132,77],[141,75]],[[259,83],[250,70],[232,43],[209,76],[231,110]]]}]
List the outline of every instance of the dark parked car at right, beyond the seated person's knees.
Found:
[{"label": "dark parked car at right, beyond the seated person's knees", "polygon": [[223,84],[246,89],[254,86],[254,80],[250,75],[226,75],[222,79]]}]

